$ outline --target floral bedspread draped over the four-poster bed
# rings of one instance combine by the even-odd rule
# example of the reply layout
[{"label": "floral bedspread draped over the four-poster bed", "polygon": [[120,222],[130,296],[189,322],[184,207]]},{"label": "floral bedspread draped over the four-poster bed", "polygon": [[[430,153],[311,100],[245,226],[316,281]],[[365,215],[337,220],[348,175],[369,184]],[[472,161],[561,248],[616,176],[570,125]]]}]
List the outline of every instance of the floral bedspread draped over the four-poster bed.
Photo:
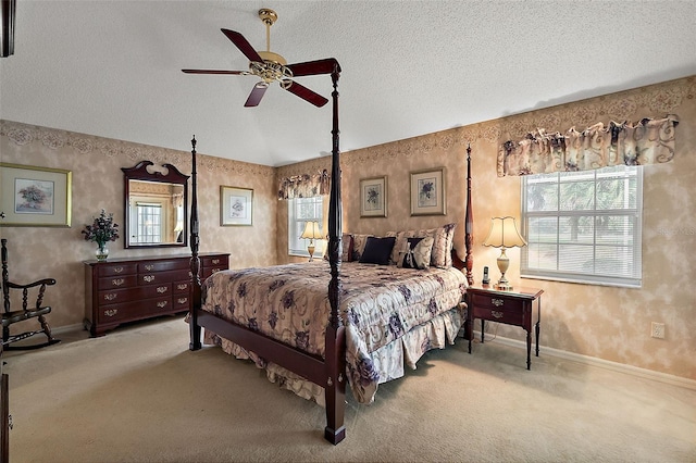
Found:
[{"label": "floral bedspread draped over the four-poster bed", "polygon": [[[203,284],[202,306],[323,356],[331,313],[330,278],[325,261],[217,272]],[[385,363],[388,347],[433,318],[449,315],[461,301],[467,281],[453,267],[412,270],[353,262],[341,265],[340,278],[348,379],[356,399],[370,403],[377,385],[390,379],[381,377],[383,368],[377,364]],[[459,326],[449,331],[452,329],[456,334]],[[420,331],[421,346],[417,349],[424,352],[433,347],[430,334],[434,329]],[[400,346],[398,349],[403,350]]]}]

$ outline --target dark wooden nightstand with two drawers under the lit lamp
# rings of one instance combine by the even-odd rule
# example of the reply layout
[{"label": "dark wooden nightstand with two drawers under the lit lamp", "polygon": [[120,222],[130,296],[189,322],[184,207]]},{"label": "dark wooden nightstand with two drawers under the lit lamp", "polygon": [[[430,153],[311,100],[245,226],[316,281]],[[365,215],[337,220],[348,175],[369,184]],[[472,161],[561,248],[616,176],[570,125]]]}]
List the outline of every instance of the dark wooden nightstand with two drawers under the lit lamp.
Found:
[{"label": "dark wooden nightstand with two drawers under the lit lamp", "polygon": [[[539,320],[543,289],[518,288],[499,291],[493,288],[467,288],[467,337],[469,353],[473,339],[474,318],[481,318],[481,342],[484,341],[485,321],[520,326],[526,330],[526,370],[532,367],[532,326],[536,335],[536,356],[539,356]],[[536,305],[536,311],[534,310]]]}]

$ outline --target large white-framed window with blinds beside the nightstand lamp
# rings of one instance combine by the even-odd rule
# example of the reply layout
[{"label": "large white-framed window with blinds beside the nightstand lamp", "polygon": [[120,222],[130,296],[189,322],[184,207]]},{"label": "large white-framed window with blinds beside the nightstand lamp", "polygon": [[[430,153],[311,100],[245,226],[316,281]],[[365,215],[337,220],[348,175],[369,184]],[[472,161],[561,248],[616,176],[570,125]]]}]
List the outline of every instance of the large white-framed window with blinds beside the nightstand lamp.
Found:
[{"label": "large white-framed window with blinds beside the nightstand lamp", "polygon": [[522,177],[521,275],[639,288],[643,171]]}]

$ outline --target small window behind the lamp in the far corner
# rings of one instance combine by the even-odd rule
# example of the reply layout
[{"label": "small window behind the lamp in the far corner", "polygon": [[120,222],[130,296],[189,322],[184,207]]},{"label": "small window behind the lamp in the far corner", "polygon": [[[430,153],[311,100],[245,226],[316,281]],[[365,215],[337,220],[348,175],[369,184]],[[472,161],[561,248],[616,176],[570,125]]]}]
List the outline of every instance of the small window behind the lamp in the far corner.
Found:
[{"label": "small window behind the lamp in the far corner", "polygon": [[[308,221],[323,223],[323,200],[321,196],[313,198],[295,198],[287,200],[287,253],[309,258],[307,247],[309,240],[300,238]],[[324,236],[326,230],[322,229]],[[326,241],[314,240],[314,258],[324,253]]]}]

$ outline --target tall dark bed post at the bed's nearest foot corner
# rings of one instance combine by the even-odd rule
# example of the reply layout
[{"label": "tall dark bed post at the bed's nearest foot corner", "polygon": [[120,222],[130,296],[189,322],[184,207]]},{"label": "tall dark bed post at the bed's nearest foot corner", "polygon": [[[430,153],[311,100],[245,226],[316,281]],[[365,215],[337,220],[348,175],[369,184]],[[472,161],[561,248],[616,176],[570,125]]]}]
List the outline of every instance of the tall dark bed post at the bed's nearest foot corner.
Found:
[{"label": "tall dark bed post at the bed's nearest foot corner", "polygon": [[340,153],[338,150],[338,77],[340,66],[334,63],[331,74],[334,91],[333,97],[333,128],[332,128],[332,177],[331,199],[328,202],[328,263],[331,265],[331,281],[328,283],[328,302],[331,316],[325,337],[326,385],[324,395],[326,400],[326,427],[324,438],[336,445],[346,437],[344,413],[346,410],[346,338],[340,316],[340,259],[341,259],[341,199],[340,199]]}]

